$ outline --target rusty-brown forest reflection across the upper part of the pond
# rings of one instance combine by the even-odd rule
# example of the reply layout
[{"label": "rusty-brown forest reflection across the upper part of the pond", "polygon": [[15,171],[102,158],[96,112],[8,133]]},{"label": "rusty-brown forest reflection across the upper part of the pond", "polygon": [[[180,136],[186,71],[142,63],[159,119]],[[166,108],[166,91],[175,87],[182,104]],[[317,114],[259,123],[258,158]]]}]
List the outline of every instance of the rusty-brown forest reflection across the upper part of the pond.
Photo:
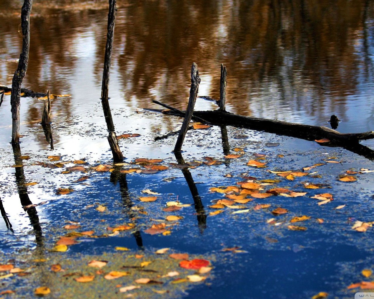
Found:
[{"label": "rusty-brown forest reflection across the upper part of the pond", "polygon": [[[8,59],[1,82],[10,81],[21,49],[17,2],[0,4],[0,55]],[[34,1],[27,87],[65,92],[74,77],[92,77],[92,70],[93,85],[101,85],[107,1],[79,2]],[[151,99],[158,99],[185,108],[193,61],[210,77],[214,98],[220,64],[227,66],[229,110],[242,115],[256,110],[261,117],[284,106],[309,115],[328,107],[344,117],[347,96],[373,81],[372,1],[117,0],[117,6],[112,66],[119,77],[111,80],[120,81],[125,103],[155,107]],[[83,54],[92,66],[74,73],[82,72]],[[28,121],[40,118],[35,107],[27,109]],[[71,114],[69,101],[53,109]]]}]

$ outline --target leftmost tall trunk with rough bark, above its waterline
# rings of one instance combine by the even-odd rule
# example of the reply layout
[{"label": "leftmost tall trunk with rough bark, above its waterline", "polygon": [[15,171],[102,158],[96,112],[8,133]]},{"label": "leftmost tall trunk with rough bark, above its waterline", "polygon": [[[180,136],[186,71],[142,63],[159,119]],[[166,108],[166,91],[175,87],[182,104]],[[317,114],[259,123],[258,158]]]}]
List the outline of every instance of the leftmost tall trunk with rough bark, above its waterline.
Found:
[{"label": "leftmost tall trunk with rough bark, above its waterline", "polygon": [[19,142],[19,108],[21,107],[21,85],[25,77],[28,65],[28,52],[30,50],[30,13],[33,0],[24,0],[21,9],[22,28],[22,52],[19,55],[18,67],[13,75],[12,93],[10,95],[10,105],[12,112],[12,144]]}]

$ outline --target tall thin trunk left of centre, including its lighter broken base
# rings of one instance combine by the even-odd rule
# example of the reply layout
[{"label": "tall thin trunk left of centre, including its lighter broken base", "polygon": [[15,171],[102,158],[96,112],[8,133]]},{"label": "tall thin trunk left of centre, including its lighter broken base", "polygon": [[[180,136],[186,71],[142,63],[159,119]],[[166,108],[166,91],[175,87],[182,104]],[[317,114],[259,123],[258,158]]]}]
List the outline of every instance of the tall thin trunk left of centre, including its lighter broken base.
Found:
[{"label": "tall thin trunk left of centre, including its lighter broken base", "polygon": [[107,128],[109,131],[108,142],[110,145],[110,149],[112,150],[113,160],[114,162],[122,162],[123,155],[118,145],[116,133],[114,132],[113,118],[110,112],[108,101],[110,59],[113,45],[114,24],[116,22],[116,12],[116,0],[109,0],[108,33],[107,44],[105,46],[104,71],[102,73],[101,104],[102,110],[104,111],[105,122],[107,123]]}]

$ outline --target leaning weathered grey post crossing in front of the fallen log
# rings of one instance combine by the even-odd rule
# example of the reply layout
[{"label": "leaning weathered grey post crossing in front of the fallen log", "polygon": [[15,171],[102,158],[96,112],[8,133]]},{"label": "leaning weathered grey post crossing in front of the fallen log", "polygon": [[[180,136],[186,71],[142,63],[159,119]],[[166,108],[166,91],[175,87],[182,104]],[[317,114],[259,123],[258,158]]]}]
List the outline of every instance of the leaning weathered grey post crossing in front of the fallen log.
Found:
[{"label": "leaning weathered grey post crossing in front of the fallen log", "polygon": [[175,143],[174,151],[181,151],[184,138],[188,130],[188,124],[191,121],[193,108],[195,106],[197,92],[199,91],[200,77],[199,70],[197,70],[197,64],[194,62],[191,67],[191,88],[190,88],[190,98],[188,99],[187,113],[184,117],[181,131],[179,132],[177,142]]}]

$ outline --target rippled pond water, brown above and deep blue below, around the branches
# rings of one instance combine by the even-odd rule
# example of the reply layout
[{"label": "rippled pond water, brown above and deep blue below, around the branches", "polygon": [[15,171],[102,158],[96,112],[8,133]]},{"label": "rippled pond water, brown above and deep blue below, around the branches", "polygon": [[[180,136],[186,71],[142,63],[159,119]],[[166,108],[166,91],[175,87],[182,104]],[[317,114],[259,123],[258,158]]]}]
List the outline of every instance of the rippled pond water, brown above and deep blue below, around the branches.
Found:
[{"label": "rippled pond water, brown above and deep blue below, around the branches", "polygon": [[[21,5],[22,1],[0,2],[1,86],[11,86],[21,51]],[[192,62],[199,68],[199,96],[218,99],[223,63],[228,73],[227,111],[328,127],[335,114],[340,119],[339,132],[374,130],[374,3],[118,0],[117,7],[110,107],[117,135],[140,134],[119,140],[126,157],[123,166],[113,166],[100,102],[107,2],[33,1],[30,60],[22,87],[71,96],[52,99],[53,150],[40,125],[44,100],[21,98],[20,147],[22,155],[30,157],[23,160],[23,167],[12,167],[17,161],[9,144],[10,96],[5,95],[1,104],[4,221],[0,222],[0,265],[12,263],[31,274],[3,277],[8,272],[0,272],[0,292],[17,288],[16,295],[9,296],[30,298],[43,283],[51,289],[50,298],[76,298],[80,292],[87,298],[198,298],[202,294],[206,299],[312,298],[319,292],[329,293],[328,298],[354,298],[360,289],[348,289],[352,283],[373,280],[361,271],[374,270],[374,173],[357,173],[374,169],[370,158],[373,139],[361,142],[369,153],[361,155],[302,139],[227,127],[230,153],[237,154],[235,148],[241,152],[240,157],[228,159],[222,130],[213,126],[187,132],[183,158],[194,161],[196,167],[183,169],[175,165],[178,162],[172,152],[177,135],[155,140],[178,131],[182,120],[142,108],[160,108],[152,102],[155,99],[185,109]],[[216,106],[197,99],[195,109],[214,110]],[[255,155],[259,153],[266,156]],[[52,155],[61,158],[51,161],[47,157]],[[211,161],[205,157],[223,163],[203,164]],[[137,158],[161,159],[148,166],[168,169],[140,172],[145,170],[144,163],[135,164]],[[74,160],[83,160],[81,165],[87,171],[68,172]],[[246,165],[249,160],[266,164],[251,167]],[[303,172],[304,167],[317,163],[323,165],[305,170],[311,173],[308,176],[285,178],[269,172]],[[113,171],[91,168],[99,164],[110,164]],[[123,172],[134,167],[138,172]],[[348,170],[356,181],[339,181]],[[88,178],[77,181],[82,176]],[[248,195],[248,203],[234,204],[243,209],[221,207],[222,213],[211,213],[216,209],[209,206],[225,198],[211,188],[240,188],[237,182],[243,181],[262,184],[264,191],[287,188],[307,193],[298,197]],[[34,182],[37,184],[27,184]],[[306,183],[319,188],[306,188]],[[73,192],[59,194],[59,188]],[[140,201],[139,197],[149,196],[142,192],[145,189],[159,193],[157,200]],[[321,201],[310,198],[323,193],[332,194],[334,200],[319,205]],[[163,211],[167,202],[176,200],[191,206]],[[37,206],[22,207],[28,204]],[[257,204],[270,207],[258,209]],[[106,210],[99,212],[98,206]],[[288,213],[275,216],[272,211],[277,207]],[[236,211],[244,212],[233,213]],[[165,221],[168,215],[183,218],[177,224],[169,223]],[[310,219],[291,222],[302,215]],[[77,231],[93,230],[97,237],[81,235],[67,252],[50,252],[67,233],[63,227],[69,221],[79,222]],[[356,221],[370,227],[358,232],[352,229]],[[163,222],[172,224],[169,235],[147,233],[151,225]],[[107,227],[124,223],[134,228],[107,237]],[[294,231],[290,225],[307,230]],[[152,261],[156,260],[154,251],[170,247],[170,252],[209,260],[213,269],[201,282],[165,282],[169,293],[152,292],[151,286],[145,295],[137,289],[116,293],[116,284],[132,283],[127,280],[110,286],[101,281],[92,287],[95,292],[84,293],[89,290],[74,286],[75,281],[61,282],[64,273],[48,268],[61,263],[72,272],[74,265],[94,257],[115,264],[115,246],[130,249],[122,258],[144,254]],[[33,264],[42,258],[47,265]],[[96,280],[101,279],[97,276]]]}]

